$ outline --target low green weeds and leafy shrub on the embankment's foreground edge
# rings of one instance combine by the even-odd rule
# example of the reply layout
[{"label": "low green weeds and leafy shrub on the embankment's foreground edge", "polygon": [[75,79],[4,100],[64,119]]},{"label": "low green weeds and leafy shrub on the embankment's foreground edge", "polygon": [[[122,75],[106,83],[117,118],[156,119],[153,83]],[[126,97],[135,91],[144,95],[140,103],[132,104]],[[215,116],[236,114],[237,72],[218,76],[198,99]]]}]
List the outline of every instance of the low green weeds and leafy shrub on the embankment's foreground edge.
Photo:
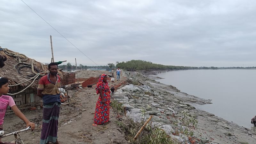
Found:
[{"label": "low green weeds and leafy shrub on the embankment's foreground edge", "polygon": [[[117,102],[117,101],[116,101]],[[116,104],[115,104],[116,105]],[[120,106],[118,106],[120,107]],[[126,118],[123,121],[117,121],[117,126],[125,133],[125,139],[131,144],[180,144],[180,140],[170,137],[164,130],[158,126],[151,126],[150,123],[142,130],[139,137],[133,140],[136,133],[140,130],[145,121],[141,123],[134,122],[131,118]],[[188,113],[183,111],[180,118],[174,122],[175,135],[181,138],[188,138],[194,134],[197,120],[194,117],[188,116]],[[185,141],[183,141],[185,142]]]}]

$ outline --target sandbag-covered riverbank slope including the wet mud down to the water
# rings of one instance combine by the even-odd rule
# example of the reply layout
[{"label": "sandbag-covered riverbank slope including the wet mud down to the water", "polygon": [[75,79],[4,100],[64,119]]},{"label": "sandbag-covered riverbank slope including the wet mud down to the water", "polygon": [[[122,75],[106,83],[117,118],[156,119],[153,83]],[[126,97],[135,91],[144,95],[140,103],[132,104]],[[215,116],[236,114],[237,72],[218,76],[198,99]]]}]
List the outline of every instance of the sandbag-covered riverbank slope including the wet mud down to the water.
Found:
[{"label": "sandbag-covered riverbank slope including the wet mud down to the water", "polygon": [[[150,75],[151,74],[152,72]],[[143,92],[139,91],[137,93],[139,99],[136,101],[128,96],[129,100],[127,104],[131,106],[131,113],[132,111],[135,111],[136,108],[145,109],[147,113],[146,117],[148,117],[149,114],[154,115],[154,117],[156,117],[155,121],[160,122],[161,124],[167,124],[175,131],[175,126],[173,126],[172,123],[180,118],[177,115],[182,111],[186,111],[190,117],[195,117],[198,121],[194,130],[194,135],[206,138],[209,140],[209,143],[256,143],[256,140],[253,138],[255,135],[251,130],[214,116],[214,114],[209,112],[195,109],[193,107],[193,105],[196,104],[209,104],[211,103],[211,100],[204,100],[196,96],[180,92],[180,90],[172,85],[165,85],[156,82],[154,79],[157,79],[157,77],[144,75],[144,72],[133,72],[130,73],[130,75],[128,73],[127,77],[133,81],[140,81],[143,86],[131,86],[130,88],[129,86],[124,86],[120,91],[129,92],[134,96],[134,93],[136,94],[134,90],[138,88],[142,90],[144,88]],[[125,102],[125,100],[122,102]],[[152,109],[147,109],[148,107],[151,107]],[[138,114],[140,112],[136,111],[135,113],[136,115],[132,114],[131,117],[137,117],[136,119],[138,119],[138,116],[140,116],[143,118],[143,116]],[[171,131],[172,129],[169,128]],[[175,137],[181,139],[180,137]]]}]

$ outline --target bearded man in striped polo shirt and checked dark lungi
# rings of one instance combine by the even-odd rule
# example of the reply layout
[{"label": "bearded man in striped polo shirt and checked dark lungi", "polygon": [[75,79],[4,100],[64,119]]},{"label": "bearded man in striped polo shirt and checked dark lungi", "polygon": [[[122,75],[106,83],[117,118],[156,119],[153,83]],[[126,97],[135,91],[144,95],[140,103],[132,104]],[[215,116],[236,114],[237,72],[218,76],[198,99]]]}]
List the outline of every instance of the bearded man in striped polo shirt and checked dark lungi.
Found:
[{"label": "bearded man in striped polo shirt and checked dark lungi", "polygon": [[57,75],[58,64],[51,62],[48,65],[50,73],[41,77],[37,95],[43,98],[43,124],[40,144],[49,142],[60,144],[57,140],[58,120],[60,114],[60,76]]}]

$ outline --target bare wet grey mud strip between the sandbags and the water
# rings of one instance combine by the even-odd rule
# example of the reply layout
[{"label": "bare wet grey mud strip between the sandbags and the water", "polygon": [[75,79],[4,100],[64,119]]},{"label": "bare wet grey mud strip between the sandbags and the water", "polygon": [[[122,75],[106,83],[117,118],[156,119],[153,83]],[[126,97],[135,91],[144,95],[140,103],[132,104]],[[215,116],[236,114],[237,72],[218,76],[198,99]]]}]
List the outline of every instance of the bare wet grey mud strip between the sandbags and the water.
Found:
[{"label": "bare wet grey mud strip between the sandbags and the water", "polygon": [[[168,107],[172,107],[172,109],[174,110],[175,108],[186,110],[190,115],[195,116],[196,119],[198,120],[195,133],[197,133],[198,136],[208,138],[212,144],[246,142],[250,144],[256,144],[256,135],[251,130],[239,126],[235,123],[228,122],[227,120],[221,117],[215,116],[214,114],[211,114],[201,109],[187,109],[186,106],[188,105],[203,105],[211,103],[211,101],[193,95],[189,95],[185,92],[181,92],[172,85],[166,85],[160,82],[156,82],[156,79],[158,79],[159,77],[152,76],[152,73],[154,72],[156,71],[132,72],[131,75],[129,75],[129,72],[126,72],[126,76],[128,79],[132,78],[134,80],[138,80],[142,84],[151,87],[151,91],[159,91],[161,92],[161,94],[165,93],[166,95],[164,96],[167,96],[167,98],[172,98],[172,101],[164,100],[164,105],[168,105]],[[177,101],[175,102],[173,100]],[[166,111],[167,110],[165,110],[164,112],[166,113]]]}]

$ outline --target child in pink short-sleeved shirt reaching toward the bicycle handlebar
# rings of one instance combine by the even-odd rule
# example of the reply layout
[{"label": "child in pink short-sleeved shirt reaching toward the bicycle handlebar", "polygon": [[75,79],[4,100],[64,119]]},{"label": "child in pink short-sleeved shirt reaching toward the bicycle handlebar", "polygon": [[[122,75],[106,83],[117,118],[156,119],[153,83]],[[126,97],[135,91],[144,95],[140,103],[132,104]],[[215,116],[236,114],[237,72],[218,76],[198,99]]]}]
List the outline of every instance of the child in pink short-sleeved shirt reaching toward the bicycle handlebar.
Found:
[{"label": "child in pink short-sleeved shirt reaching toward the bicycle handlebar", "polygon": [[[30,122],[26,116],[24,116],[23,113],[20,112],[18,107],[15,105],[14,100],[11,96],[3,95],[7,94],[9,92],[9,86],[8,86],[8,79],[5,77],[0,77],[0,131],[3,130],[3,123],[4,123],[4,115],[6,108],[10,106],[15,113],[16,116],[18,116],[21,120],[23,120],[27,127],[30,126],[31,130],[35,129],[35,123]],[[1,141],[1,139],[0,139]]]}]

